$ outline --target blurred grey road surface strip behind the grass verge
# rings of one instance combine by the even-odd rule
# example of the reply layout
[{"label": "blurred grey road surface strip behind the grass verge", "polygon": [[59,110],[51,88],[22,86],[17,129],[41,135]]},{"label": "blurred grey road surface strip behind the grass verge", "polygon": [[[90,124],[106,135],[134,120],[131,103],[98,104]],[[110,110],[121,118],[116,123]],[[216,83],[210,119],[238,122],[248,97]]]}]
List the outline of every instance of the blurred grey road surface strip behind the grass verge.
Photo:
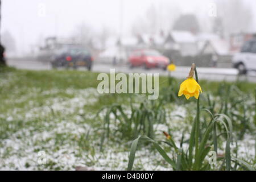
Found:
[{"label": "blurred grey road surface strip behind the grass verge", "polygon": [[[31,70],[49,70],[52,69],[48,62],[40,62],[29,59],[9,59],[7,64],[18,69],[31,69]],[[100,64],[97,61],[94,62],[93,72],[110,72],[110,69],[114,68],[115,72],[123,73],[159,73],[159,75],[167,76],[167,71],[162,69],[149,69],[133,68],[130,69],[127,65],[111,65]],[[61,68],[60,68],[61,69]],[[85,70],[85,68],[79,68],[79,70]],[[175,72],[172,72],[172,76],[176,78],[185,78],[188,75],[189,67],[177,67]],[[237,70],[233,68],[197,68],[197,72],[201,79],[215,80],[215,81],[236,81]],[[240,80],[247,80],[250,82],[256,82],[256,72],[249,72],[247,76],[241,76]]]}]

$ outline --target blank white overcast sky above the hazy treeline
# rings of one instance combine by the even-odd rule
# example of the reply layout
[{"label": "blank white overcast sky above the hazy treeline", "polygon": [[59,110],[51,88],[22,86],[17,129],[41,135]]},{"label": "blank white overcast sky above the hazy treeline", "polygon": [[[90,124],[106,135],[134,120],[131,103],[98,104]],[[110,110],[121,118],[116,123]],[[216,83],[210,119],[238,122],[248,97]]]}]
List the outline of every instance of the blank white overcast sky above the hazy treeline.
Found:
[{"label": "blank white overcast sky above the hazy treeline", "polygon": [[[232,0],[229,0],[232,1]],[[255,10],[256,1],[241,0]],[[181,13],[207,15],[208,0],[2,0],[1,32],[13,35],[16,47],[27,51],[39,38],[58,35],[67,37],[85,22],[95,31],[110,27],[119,32],[123,3],[123,34],[130,32],[134,20],[143,16],[151,5],[158,10],[164,6],[178,6]],[[40,14],[40,5],[46,6],[46,16]],[[254,15],[255,17],[255,15]],[[255,19],[254,19],[254,24]],[[21,47],[21,48],[20,48]]]}]

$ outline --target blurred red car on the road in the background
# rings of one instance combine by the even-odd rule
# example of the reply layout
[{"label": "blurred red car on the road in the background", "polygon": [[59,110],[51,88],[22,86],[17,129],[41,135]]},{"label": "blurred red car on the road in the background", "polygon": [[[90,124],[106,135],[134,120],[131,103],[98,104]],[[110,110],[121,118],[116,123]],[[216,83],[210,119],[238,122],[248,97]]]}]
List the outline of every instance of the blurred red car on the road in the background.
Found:
[{"label": "blurred red car on the road in the background", "polygon": [[153,49],[140,49],[131,53],[129,63],[131,68],[143,66],[145,69],[166,69],[170,60]]}]

